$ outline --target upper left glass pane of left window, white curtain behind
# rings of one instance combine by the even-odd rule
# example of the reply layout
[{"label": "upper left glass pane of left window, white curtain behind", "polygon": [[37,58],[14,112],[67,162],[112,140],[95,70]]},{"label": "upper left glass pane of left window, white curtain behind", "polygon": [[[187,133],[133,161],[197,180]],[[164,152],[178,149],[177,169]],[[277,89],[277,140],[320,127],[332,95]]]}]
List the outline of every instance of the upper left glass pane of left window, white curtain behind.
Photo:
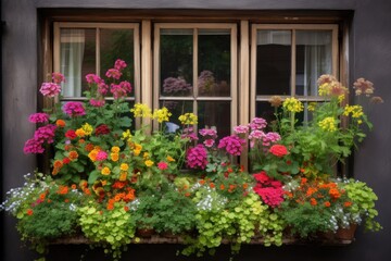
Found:
[{"label": "upper left glass pane of left window, white curtain behind", "polygon": [[86,75],[96,73],[96,29],[61,29],[60,73],[64,97],[81,97],[87,90]]}]

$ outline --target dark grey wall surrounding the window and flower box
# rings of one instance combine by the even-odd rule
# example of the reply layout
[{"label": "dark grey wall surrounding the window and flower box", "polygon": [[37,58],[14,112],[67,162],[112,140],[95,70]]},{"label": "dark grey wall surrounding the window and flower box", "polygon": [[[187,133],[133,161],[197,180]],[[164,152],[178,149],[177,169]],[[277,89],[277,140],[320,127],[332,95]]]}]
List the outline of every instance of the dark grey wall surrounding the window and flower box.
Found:
[{"label": "dark grey wall surrounding the window and flower box", "polygon": [[[391,1],[390,0],[3,0],[2,20],[2,145],[1,170],[3,191],[23,184],[23,175],[35,167],[35,159],[23,154],[24,141],[34,132],[27,116],[37,109],[37,75],[39,42],[38,8],[110,8],[110,9],[243,9],[243,10],[352,10],[354,17],[350,37],[350,78],[365,77],[375,83],[377,95],[386,103],[369,113],[375,129],[354,157],[354,175],[367,182],[378,194],[378,209],[383,231],[364,233],[346,247],[285,246],[264,248],[244,246],[238,260],[389,260],[391,209],[388,197],[391,184]],[[3,260],[33,260],[34,254],[22,247],[13,219],[4,219],[1,233]],[[130,246],[131,260],[189,260],[176,257],[174,245]],[[55,246],[48,260],[78,260],[80,246]],[[213,260],[227,260],[223,247]],[[202,260],[210,260],[204,258]],[[104,260],[100,251],[86,254],[86,260]],[[125,259],[124,259],[125,260]]]}]

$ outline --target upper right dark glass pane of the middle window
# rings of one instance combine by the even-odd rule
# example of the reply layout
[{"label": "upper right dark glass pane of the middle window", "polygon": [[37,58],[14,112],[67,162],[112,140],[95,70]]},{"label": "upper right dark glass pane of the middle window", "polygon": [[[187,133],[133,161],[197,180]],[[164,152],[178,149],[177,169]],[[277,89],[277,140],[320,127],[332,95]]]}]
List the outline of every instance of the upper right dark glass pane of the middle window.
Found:
[{"label": "upper right dark glass pane of the middle window", "polygon": [[230,30],[200,29],[199,96],[230,96]]}]

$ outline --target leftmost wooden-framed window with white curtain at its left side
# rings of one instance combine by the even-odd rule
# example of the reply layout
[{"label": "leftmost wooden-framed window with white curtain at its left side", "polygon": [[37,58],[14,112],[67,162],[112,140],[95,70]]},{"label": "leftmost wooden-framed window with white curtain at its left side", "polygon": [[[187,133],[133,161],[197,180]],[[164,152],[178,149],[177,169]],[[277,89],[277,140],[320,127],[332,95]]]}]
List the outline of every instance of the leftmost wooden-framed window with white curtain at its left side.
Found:
[{"label": "leftmost wooden-framed window with white curtain at its left side", "polygon": [[134,91],[127,99],[138,100],[139,46],[138,24],[55,23],[54,71],[66,78],[62,86],[63,100],[83,100],[87,88],[85,76],[89,73],[104,76],[117,58],[128,63],[123,77],[133,84]]}]

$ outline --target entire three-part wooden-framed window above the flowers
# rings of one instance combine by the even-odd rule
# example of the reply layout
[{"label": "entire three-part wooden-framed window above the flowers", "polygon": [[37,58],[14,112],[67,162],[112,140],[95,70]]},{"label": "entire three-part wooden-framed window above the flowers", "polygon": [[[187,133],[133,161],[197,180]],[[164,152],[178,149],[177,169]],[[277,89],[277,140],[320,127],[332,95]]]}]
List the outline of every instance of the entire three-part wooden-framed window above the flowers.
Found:
[{"label": "entire three-part wooden-framed window above the flowers", "polygon": [[[217,20],[54,23],[54,71],[67,79],[63,100],[85,99],[85,75],[104,76],[121,58],[134,86],[129,102],[167,107],[174,124],[184,112],[193,112],[195,127],[216,127],[224,137],[254,116],[273,120],[272,96],[295,96],[304,104],[321,101],[317,78],[339,76],[338,24]],[[247,156],[241,162],[247,165]]]}]

